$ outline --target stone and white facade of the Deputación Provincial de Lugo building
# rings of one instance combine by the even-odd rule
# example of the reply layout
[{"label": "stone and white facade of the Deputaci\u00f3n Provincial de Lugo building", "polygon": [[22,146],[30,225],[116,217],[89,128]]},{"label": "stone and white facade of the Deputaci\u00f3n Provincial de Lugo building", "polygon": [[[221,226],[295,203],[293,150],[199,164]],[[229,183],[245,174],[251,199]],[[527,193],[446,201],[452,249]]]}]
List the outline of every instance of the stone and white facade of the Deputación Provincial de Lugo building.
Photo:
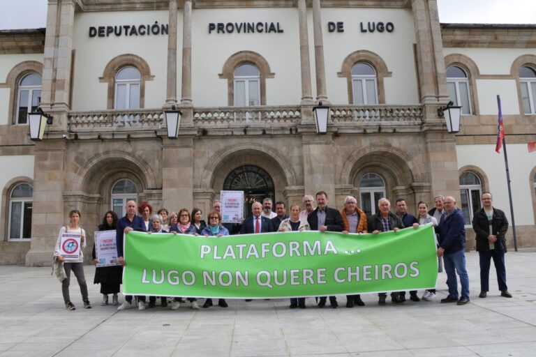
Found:
[{"label": "stone and white facade of the Deputaci\u00f3n Provincial de Lugo building", "polygon": [[[0,264],[50,264],[73,208],[91,243],[129,197],[207,213],[224,189],[247,204],[325,190],[338,208],[355,195],[373,213],[385,195],[415,213],[441,194],[470,220],[491,190],[509,211],[497,94],[518,245],[536,245],[535,25],[440,24],[435,0],[49,0],[46,29],[0,31],[0,63]],[[54,116],[41,142],[24,124],[34,95]],[[456,135],[437,113],[453,97]]]}]

